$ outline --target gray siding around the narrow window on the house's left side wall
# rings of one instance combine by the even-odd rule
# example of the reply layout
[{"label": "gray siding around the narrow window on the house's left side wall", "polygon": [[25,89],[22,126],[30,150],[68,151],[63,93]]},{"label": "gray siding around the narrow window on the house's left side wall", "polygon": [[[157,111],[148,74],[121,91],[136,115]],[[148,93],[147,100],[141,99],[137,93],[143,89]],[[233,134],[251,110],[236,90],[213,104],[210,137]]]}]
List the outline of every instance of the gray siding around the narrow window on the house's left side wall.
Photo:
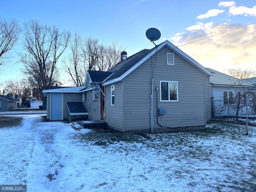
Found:
[{"label": "gray siding around the narrow window on the house's left side wall", "polygon": [[[111,84],[112,85],[112,84]],[[115,105],[111,106],[111,85],[105,87],[105,114],[110,128],[123,130],[123,86],[122,82],[115,83]]]}]

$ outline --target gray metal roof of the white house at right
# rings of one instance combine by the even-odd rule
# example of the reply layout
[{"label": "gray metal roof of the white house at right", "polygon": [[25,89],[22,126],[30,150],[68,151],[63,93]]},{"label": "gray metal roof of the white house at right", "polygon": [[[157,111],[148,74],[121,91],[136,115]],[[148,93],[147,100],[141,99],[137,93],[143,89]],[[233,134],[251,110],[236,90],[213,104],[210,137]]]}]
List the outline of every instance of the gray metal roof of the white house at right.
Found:
[{"label": "gray metal roof of the white house at right", "polygon": [[237,78],[234,78],[232,76],[229,76],[227,74],[218,72],[216,70],[207,68],[210,72],[215,73],[214,76],[210,76],[210,84],[212,85],[218,85],[218,86],[248,86],[252,87],[253,85]]}]

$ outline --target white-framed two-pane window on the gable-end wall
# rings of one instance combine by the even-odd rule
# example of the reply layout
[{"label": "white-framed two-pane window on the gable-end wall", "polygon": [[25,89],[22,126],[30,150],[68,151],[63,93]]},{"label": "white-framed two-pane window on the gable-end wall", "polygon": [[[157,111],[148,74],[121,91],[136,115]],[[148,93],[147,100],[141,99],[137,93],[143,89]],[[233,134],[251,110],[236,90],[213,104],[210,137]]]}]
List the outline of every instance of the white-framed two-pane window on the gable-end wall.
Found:
[{"label": "white-framed two-pane window on the gable-end wall", "polygon": [[160,101],[178,101],[178,81],[160,81]]}]

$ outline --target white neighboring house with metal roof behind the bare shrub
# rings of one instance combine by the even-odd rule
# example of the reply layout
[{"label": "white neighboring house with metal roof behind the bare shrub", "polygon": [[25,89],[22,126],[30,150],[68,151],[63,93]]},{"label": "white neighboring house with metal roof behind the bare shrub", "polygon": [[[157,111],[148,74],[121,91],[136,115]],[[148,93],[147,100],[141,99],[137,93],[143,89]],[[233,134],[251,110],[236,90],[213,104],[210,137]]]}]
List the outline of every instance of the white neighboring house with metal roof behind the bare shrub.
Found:
[{"label": "white neighboring house with metal roof behind the bare shrub", "polygon": [[[233,98],[238,92],[246,92],[248,90],[252,90],[253,84],[210,68],[207,69],[215,74],[214,76],[210,76],[212,117],[218,118],[227,115],[235,115],[236,110],[234,110],[234,108],[230,108],[230,105],[228,105],[228,103],[233,103]],[[246,114],[245,110],[241,109],[239,111],[239,115],[244,114]]]}]

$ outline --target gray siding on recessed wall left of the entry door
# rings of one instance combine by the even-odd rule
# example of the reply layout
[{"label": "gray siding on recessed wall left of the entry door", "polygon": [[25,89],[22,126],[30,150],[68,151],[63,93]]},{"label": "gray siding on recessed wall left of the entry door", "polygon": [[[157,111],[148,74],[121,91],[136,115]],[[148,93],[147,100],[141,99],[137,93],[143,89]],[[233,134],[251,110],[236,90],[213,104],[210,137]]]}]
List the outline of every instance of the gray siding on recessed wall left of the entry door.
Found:
[{"label": "gray siding on recessed wall left of the entry door", "polygon": [[88,120],[100,120],[100,104],[98,101],[93,101],[92,90],[86,92],[86,101],[83,103],[88,111]]}]

